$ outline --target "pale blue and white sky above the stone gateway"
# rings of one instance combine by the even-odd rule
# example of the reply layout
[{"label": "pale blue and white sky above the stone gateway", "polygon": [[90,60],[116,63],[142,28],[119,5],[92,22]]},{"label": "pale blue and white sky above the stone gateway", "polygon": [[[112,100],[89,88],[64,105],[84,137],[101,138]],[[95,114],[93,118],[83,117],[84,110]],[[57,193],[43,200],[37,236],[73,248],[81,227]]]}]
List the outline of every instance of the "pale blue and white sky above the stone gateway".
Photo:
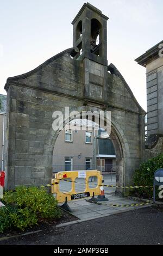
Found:
[{"label": "pale blue and white sky above the stone gateway", "polygon": [[[0,0],[0,93],[8,77],[72,47],[71,22],[83,0]],[[162,0],[90,0],[108,20],[113,63],[146,109],[146,69],[134,61],[162,40]]]}]

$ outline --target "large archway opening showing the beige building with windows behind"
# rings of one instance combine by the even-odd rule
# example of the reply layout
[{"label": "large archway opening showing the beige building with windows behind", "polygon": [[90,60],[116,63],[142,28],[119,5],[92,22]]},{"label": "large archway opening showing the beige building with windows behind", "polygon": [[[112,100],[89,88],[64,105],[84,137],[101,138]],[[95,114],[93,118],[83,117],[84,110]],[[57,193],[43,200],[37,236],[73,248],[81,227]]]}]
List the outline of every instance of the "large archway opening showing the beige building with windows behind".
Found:
[{"label": "large archway opening showing the beige building with windows behind", "polygon": [[[79,129],[82,123],[82,129]],[[83,125],[84,124],[84,125]],[[122,186],[124,181],[124,150],[114,125],[108,138],[100,138],[99,126],[92,120],[73,119],[58,132],[54,139],[52,173],[70,170],[98,169],[103,174],[105,184]],[[83,129],[84,126],[84,129]],[[105,130],[102,129],[105,133]],[[98,138],[99,137],[99,138]],[[114,151],[104,152],[106,148]],[[111,150],[112,150],[111,148]],[[70,182],[69,182],[70,183]],[[67,187],[71,186],[71,184]],[[80,185],[81,188],[81,185]],[[106,193],[115,192],[115,188],[106,188]]]}]

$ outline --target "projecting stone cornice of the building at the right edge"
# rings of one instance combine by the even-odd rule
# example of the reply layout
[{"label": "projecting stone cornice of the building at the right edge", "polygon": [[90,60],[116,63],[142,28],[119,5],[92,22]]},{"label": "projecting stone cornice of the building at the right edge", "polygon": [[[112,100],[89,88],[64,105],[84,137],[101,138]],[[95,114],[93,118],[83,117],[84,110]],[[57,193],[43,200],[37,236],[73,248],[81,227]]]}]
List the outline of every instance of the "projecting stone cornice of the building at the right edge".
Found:
[{"label": "projecting stone cornice of the building at the right edge", "polygon": [[158,44],[154,45],[151,47],[149,50],[147,50],[145,53],[143,53],[140,57],[135,59],[135,62],[141,66],[145,66],[149,63],[152,62],[155,59],[159,58],[159,45],[163,44],[163,40],[160,41]]}]

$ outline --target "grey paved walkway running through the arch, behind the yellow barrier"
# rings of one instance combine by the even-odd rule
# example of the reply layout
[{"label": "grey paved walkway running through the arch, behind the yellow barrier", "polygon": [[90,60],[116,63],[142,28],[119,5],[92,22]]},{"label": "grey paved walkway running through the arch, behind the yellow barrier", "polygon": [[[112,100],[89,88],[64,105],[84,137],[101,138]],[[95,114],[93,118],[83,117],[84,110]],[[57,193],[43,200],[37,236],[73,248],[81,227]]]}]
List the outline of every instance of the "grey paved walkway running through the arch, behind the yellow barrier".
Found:
[{"label": "grey paved walkway running through the arch, behind the yellow barrier", "polygon": [[[105,180],[105,184],[107,185],[115,185],[115,174],[112,176],[112,180],[110,179],[110,175],[103,175]],[[80,184],[76,184],[76,192],[83,192],[85,184],[84,179],[78,179]],[[96,187],[97,182],[93,181],[90,182],[90,187]],[[62,192],[68,192],[71,190],[71,182],[61,181],[60,182],[60,190]],[[137,203],[135,200],[130,200],[124,197],[114,196],[115,188],[104,187],[105,197],[109,200],[106,202],[100,202],[101,205],[87,202],[89,198],[79,199],[79,200],[72,200],[68,202],[71,210],[73,211],[72,214],[78,217],[80,220],[91,220],[93,218],[109,216],[112,214],[118,214],[120,212],[134,210],[137,208],[145,207],[143,206],[111,206],[112,204],[118,205],[129,205]],[[62,205],[60,203],[59,205]],[[148,206],[148,205],[147,205]]]}]

